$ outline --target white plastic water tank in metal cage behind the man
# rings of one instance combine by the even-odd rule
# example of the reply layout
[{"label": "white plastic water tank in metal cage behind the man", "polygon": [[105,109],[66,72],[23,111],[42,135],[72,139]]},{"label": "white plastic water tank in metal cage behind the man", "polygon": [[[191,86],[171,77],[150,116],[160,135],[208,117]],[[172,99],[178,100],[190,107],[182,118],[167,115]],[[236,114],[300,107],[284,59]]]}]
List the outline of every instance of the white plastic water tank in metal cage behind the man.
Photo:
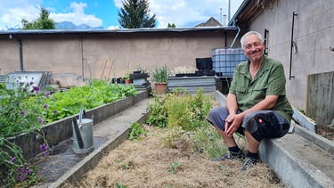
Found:
[{"label": "white plastic water tank in metal cage behind the man", "polygon": [[240,47],[221,47],[212,50],[213,69],[223,77],[233,77],[235,67],[243,61],[248,61],[248,58]]}]

